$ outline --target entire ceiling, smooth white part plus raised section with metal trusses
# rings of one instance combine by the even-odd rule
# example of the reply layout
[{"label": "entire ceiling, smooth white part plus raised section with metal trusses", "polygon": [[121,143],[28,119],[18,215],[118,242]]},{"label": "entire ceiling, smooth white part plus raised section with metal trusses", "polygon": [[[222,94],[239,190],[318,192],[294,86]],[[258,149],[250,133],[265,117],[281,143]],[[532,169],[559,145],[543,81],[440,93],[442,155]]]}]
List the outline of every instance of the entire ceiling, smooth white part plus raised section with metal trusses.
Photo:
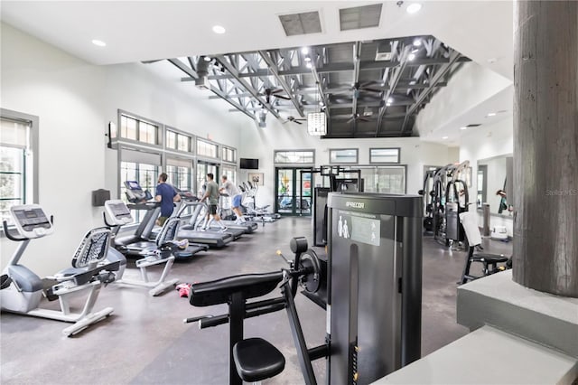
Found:
[{"label": "entire ceiling, smooth white part plus raised section with metal trusses", "polygon": [[[404,136],[415,113],[462,61],[512,79],[511,1],[428,0],[420,12],[408,14],[411,3],[2,1],[0,17],[94,64],[168,59],[186,81],[198,77],[199,59],[209,57],[212,97],[228,100],[232,110],[257,122],[266,112],[266,119],[276,115],[297,124],[322,108],[321,100],[330,136]],[[364,5],[371,12],[352,20],[349,10]],[[310,28],[303,32],[312,33],[292,34],[291,23],[282,23],[285,15],[312,13],[319,25],[302,23]],[[213,33],[216,24],[227,32]],[[419,48],[414,37],[423,41]],[[92,39],[107,46],[97,47]],[[312,68],[300,51],[304,46],[311,50]],[[391,57],[376,60],[387,52]]]}]

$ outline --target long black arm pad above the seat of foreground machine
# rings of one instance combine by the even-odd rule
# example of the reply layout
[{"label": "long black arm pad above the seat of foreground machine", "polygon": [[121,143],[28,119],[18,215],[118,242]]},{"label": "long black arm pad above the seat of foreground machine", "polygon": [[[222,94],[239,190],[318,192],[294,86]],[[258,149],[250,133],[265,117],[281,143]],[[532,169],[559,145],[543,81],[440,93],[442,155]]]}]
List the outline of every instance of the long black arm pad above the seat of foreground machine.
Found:
[{"label": "long black arm pad above the seat of foreground machine", "polygon": [[283,279],[283,272],[263,274],[243,274],[225,277],[191,286],[191,305],[210,306],[225,304],[230,296],[242,293],[245,299],[265,296],[275,290]]}]

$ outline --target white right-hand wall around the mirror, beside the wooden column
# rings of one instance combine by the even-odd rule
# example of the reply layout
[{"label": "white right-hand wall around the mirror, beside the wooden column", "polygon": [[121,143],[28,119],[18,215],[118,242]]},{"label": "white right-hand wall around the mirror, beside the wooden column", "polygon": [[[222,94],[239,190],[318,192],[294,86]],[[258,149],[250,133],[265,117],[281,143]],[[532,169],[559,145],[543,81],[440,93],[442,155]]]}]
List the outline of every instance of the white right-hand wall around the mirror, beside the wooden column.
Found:
[{"label": "white right-hand wall around the mirror, beside the wooden column", "polygon": [[[478,160],[487,159],[498,155],[511,155],[514,152],[514,134],[513,134],[513,119],[511,114],[509,117],[500,120],[491,126],[474,127],[468,130],[466,134],[461,136],[460,146],[460,162],[469,160],[471,164],[471,181],[470,196],[471,201],[475,202],[475,197],[478,191],[477,177],[478,174]],[[491,174],[489,174],[491,178]],[[501,180],[503,187],[504,181]],[[498,189],[496,189],[498,190]],[[493,196],[496,190],[488,190],[487,199],[498,199]],[[479,212],[480,214],[480,212]],[[480,214],[480,226],[482,218]],[[491,226],[506,226],[508,235],[513,234],[512,217],[499,216],[497,214],[491,215],[489,218],[489,225]]]}]

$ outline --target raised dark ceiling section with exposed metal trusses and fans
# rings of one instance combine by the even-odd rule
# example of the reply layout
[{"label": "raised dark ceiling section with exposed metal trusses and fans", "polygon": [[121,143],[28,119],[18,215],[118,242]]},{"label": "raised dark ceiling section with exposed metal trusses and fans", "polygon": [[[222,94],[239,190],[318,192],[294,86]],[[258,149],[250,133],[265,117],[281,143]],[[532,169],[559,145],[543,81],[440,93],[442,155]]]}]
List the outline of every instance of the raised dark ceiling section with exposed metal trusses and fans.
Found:
[{"label": "raised dark ceiling section with exposed metal trusses and fans", "polygon": [[463,61],[433,36],[167,59],[260,126],[324,111],[325,137],[411,136]]}]

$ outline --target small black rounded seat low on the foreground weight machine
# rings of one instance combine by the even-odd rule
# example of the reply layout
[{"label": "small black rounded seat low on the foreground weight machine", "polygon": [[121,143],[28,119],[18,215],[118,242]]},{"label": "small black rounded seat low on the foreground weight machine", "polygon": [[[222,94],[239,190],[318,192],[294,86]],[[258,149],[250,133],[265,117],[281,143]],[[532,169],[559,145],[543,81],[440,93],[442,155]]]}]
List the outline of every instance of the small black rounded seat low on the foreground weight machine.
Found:
[{"label": "small black rounded seat low on the foreground weight machine", "polygon": [[236,343],[233,359],[238,376],[247,382],[274,377],[285,367],[283,354],[262,338],[248,338]]}]

